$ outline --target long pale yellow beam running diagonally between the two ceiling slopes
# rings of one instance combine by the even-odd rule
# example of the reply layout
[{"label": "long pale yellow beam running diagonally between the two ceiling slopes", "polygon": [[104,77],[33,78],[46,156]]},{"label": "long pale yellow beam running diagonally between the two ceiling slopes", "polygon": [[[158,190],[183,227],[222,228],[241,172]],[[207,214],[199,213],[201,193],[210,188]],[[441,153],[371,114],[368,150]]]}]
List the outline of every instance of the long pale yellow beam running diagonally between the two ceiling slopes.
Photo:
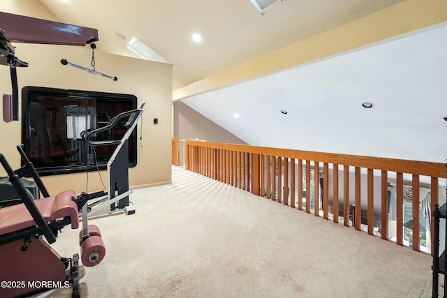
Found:
[{"label": "long pale yellow beam running diagonally between the two ceiling slopes", "polygon": [[446,0],[406,0],[173,91],[179,100],[447,21]]}]

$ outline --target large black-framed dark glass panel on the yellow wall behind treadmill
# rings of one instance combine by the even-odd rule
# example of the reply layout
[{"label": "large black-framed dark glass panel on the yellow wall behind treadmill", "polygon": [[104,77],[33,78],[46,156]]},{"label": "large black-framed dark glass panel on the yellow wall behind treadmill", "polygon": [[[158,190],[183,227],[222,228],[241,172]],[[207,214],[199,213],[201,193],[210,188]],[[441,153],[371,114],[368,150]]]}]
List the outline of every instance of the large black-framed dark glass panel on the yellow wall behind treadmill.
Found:
[{"label": "large black-framed dark glass panel on the yellow wall behind treadmill", "polygon": [[[117,145],[86,146],[86,131],[100,128],[121,112],[137,108],[131,94],[24,87],[22,144],[40,175],[105,170]],[[125,119],[124,119],[125,120]],[[137,128],[129,137],[129,167],[137,164]],[[126,132],[115,126],[96,140],[120,140]]]}]

